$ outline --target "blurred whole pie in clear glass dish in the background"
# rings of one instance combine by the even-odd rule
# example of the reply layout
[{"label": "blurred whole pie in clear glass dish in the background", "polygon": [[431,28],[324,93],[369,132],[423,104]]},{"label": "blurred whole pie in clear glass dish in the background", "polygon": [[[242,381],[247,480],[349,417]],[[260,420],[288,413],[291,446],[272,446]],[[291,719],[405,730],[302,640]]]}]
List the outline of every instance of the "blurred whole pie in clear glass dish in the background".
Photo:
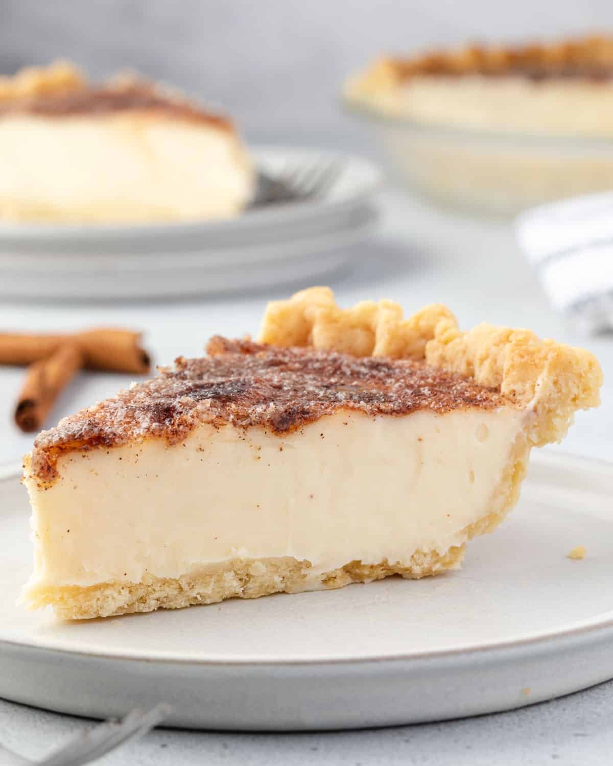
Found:
[{"label": "blurred whole pie in clear glass dish in the background", "polygon": [[382,57],[344,97],[441,201],[509,214],[613,185],[613,38]]}]

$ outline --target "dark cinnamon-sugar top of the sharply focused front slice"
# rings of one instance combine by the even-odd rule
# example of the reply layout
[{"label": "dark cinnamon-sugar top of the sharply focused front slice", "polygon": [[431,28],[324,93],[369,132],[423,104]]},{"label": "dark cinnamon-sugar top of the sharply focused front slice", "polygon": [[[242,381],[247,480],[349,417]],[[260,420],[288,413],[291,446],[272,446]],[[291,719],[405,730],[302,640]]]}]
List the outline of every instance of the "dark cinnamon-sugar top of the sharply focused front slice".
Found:
[{"label": "dark cinnamon-sugar top of the sharply focused front slice", "polygon": [[204,422],[284,435],[343,409],[366,415],[444,414],[510,404],[497,389],[408,359],[282,349],[220,336],[209,341],[207,351],[204,358],[179,357],[174,370],[162,369],[157,378],[43,431],[34,441],[34,474],[53,480],[57,457],[72,450],[117,447],[147,437],[175,444]]}]

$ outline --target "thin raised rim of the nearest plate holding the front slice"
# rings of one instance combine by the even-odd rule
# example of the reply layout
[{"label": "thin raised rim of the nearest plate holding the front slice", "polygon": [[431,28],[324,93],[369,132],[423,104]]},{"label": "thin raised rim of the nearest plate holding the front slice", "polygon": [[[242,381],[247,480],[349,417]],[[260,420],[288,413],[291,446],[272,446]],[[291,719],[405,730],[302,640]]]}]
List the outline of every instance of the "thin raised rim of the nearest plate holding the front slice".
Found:
[{"label": "thin raised rim of the nearest plate holding the front slice", "polygon": [[[598,458],[585,457],[575,453],[567,452],[541,452],[531,458],[531,462],[542,463],[545,466],[564,466],[573,463],[577,468],[596,468],[598,470],[613,470],[613,462]],[[0,490],[2,483],[8,480],[18,479],[21,474],[19,463],[5,463],[0,465]],[[604,617],[604,618],[603,618]],[[21,652],[42,652],[51,653],[55,656],[72,656],[79,660],[99,660],[99,661],[125,661],[131,663],[155,663],[178,664],[182,666],[198,666],[208,668],[252,668],[252,669],[270,669],[270,668],[319,668],[319,667],[346,667],[350,666],[370,666],[372,663],[398,664],[398,663],[435,663],[438,661],[455,660],[457,662],[474,661],[474,658],[482,657],[484,660],[493,659],[494,656],[508,656],[510,653],[526,653],[533,650],[534,653],[551,653],[563,649],[565,646],[573,643],[598,643],[606,638],[613,639],[613,607],[608,612],[604,612],[596,617],[589,617],[586,620],[580,620],[579,623],[572,623],[569,627],[563,627],[549,633],[536,633],[516,640],[490,641],[489,643],[478,646],[444,648],[431,650],[429,652],[407,652],[398,654],[388,654],[379,656],[362,657],[320,657],[318,659],[293,658],[284,660],[279,658],[238,658],[236,660],[207,660],[197,656],[172,656],[160,651],[154,651],[145,655],[134,655],[121,653],[120,650],[113,652],[100,652],[97,650],[88,651],[87,649],[74,649],[62,647],[49,647],[42,643],[24,643],[18,640],[11,640],[0,636],[0,650],[19,650]]]}]

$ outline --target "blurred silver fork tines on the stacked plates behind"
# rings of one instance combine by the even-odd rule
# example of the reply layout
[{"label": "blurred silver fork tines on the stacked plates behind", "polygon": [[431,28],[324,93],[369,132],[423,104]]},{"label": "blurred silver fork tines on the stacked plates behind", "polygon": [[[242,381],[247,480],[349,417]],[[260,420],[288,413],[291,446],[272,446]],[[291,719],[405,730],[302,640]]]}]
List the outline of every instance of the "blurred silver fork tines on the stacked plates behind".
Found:
[{"label": "blurred silver fork tines on the stacked plates behind", "polygon": [[280,173],[258,172],[257,193],[251,207],[323,197],[334,185],[344,163],[321,159],[310,165],[287,165]]}]

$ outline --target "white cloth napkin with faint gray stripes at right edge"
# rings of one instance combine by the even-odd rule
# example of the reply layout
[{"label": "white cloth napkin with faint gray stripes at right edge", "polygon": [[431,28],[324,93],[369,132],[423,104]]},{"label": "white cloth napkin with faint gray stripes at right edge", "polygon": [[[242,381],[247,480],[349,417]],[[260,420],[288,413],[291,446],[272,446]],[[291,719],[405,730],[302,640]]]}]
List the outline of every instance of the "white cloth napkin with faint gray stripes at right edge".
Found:
[{"label": "white cloth napkin with faint gray stripes at right edge", "polygon": [[613,329],[613,193],[533,208],[516,234],[554,309],[583,332]]}]

